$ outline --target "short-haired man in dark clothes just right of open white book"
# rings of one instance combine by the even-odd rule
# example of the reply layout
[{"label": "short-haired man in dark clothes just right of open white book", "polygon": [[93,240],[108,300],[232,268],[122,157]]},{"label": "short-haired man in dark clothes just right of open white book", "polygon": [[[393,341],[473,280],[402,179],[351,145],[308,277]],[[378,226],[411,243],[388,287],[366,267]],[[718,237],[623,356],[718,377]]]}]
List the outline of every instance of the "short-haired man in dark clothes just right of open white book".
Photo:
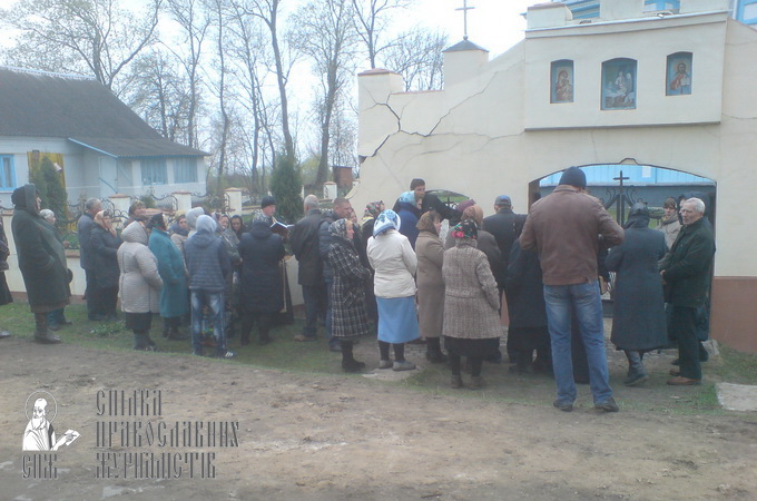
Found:
[{"label": "short-haired man in dark clothes just right of open white book", "polygon": [[294,336],[294,341],[314,341],[317,331],[318,313],[324,310],[326,284],[323,281],[323,262],[318,248],[318,228],[323,218],[318,208],[318,197],[305,197],[303,208],[305,217],[292,229],[289,244],[299,264],[297,283],[303,288],[305,299],[305,326],[303,333]]}]

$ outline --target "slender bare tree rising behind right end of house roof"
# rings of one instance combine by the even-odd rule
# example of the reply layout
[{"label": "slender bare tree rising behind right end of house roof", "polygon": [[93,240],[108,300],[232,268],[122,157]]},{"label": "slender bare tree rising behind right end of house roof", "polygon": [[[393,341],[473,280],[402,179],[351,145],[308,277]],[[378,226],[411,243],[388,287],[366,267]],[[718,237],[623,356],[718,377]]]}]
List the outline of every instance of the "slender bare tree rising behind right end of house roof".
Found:
[{"label": "slender bare tree rising behind right end of house roof", "polygon": [[167,0],[168,11],[184,30],[183,43],[187,53],[171,50],[181,61],[181,66],[189,80],[189,112],[187,124],[186,144],[191,147],[198,146],[197,115],[200,105],[200,60],[203,57],[203,43],[210,26],[210,16],[203,8],[200,0]]}]

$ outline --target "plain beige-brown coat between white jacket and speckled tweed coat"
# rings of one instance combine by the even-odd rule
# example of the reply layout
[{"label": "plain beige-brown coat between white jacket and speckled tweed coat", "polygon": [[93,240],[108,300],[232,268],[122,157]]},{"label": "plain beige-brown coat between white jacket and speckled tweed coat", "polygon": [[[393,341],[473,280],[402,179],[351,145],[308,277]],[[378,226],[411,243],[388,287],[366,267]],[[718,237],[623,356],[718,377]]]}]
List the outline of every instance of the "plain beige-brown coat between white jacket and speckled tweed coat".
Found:
[{"label": "plain beige-brown coat between white jacket and speckled tweed coat", "polygon": [[417,256],[417,321],[421,335],[439,337],[444,320],[444,247],[439,236],[421,232],[415,240]]}]

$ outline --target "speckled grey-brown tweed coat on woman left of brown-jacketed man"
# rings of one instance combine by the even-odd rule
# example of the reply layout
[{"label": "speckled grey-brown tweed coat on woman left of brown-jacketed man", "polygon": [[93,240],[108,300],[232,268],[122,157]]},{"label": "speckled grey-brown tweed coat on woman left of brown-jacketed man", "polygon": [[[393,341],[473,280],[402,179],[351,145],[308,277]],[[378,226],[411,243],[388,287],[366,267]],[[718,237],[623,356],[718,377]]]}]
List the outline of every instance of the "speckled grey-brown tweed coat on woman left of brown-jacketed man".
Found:
[{"label": "speckled grey-brown tweed coat on woman left of brown-jacketed man", "polygon": [[465,242],[444,252],[444,335],[500,337],[500,294],[486,255]]}]

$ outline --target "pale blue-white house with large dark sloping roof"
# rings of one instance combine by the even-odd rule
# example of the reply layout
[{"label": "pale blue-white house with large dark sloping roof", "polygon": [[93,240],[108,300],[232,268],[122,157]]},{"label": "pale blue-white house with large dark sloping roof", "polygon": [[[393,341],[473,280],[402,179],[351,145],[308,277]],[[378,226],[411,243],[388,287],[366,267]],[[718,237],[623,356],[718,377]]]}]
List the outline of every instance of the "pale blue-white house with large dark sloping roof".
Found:
[{"label": "pale blue-white house with large dark sloping roof", "polygon": [[78,76],[0,68],[0,206],[50,158],[69,202],[116,193],[205,194],[207,154],[161,137],[110,90]]}]

